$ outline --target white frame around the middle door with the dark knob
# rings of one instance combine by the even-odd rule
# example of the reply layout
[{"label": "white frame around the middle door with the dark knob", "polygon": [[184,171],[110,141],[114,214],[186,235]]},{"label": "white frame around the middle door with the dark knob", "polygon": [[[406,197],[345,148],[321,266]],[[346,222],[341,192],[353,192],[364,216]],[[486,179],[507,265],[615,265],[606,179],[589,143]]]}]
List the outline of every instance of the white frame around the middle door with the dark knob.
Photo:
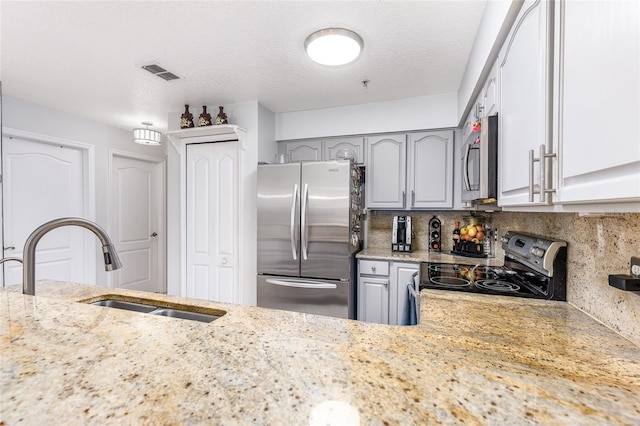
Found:
[{"label": "white frame around the middle door with the dark knob", "polygon": [[[160,238],[158,238],[158,253],[162,253],[162,258],[164,258],[164,262],[158,269],[158,279],[161,281],[162,286],[161,290],[164,293],[167,293],[167,158],[166,157],[157,157],[154,155],[148,154],[140,154],[137,152],[125,151],[121,149],[109,148],[109,159],[108,159],[108,182],[107,182],[107,232],[111,234],[114,228],[113,220],[113,203],[112,197],[114,195],[115,189],[113,188],[113,161],[115,157],[120,158],[129,158],[132,160],[145,161],[147,163],[155,164],[156,166],[160,166],[160,172],[162,174],[160,179],[160,200],[158,200],[158,204],[160,208],[157,210],[160,212],[158,217],[158,230],[160,231]],[[113,287],[113,275],[108,274],[108,286]]]}]

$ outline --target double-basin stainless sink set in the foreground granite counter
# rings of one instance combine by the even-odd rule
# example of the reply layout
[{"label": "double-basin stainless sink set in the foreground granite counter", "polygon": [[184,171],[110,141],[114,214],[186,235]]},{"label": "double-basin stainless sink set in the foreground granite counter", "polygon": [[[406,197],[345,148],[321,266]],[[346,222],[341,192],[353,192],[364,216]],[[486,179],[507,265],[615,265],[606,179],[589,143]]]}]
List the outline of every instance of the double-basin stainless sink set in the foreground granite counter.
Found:
[{"label": "double-basin stainless sink set in the foreground granite counter", "polygon": [[180,305],[179,307],[159,306],[157,301],[142,300],[129,301],[108,296],[103,299],[84,300],[83,302],[95,306],[107,308],[123,309],[125,311],[141,312],[145,314],[158,315],[162,317],[180,318],[191,321],[212,322],[226,314],[225,311],[217,309]]}]

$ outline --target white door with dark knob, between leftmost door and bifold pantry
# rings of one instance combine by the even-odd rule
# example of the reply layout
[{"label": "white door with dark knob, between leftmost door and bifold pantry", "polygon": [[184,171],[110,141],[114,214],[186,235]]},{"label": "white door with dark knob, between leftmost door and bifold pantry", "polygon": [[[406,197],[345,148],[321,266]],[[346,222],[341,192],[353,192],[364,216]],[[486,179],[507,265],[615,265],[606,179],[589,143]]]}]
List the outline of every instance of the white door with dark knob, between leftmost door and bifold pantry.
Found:
[{"label": "white door with dark knob, between leftmost door and bifold pantry", "polygon": [[165,293],[164,163],[112,155],[111,238],[122,269],[113,286]]}]

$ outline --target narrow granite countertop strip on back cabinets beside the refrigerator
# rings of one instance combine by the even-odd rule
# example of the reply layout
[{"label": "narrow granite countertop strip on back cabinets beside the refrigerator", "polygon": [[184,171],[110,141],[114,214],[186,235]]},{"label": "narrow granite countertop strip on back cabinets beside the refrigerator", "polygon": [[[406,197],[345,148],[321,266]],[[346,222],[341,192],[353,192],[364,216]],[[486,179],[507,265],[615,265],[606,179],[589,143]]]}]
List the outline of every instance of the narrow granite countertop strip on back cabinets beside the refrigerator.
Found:
[{"label": "narrow granite countertop strip on back cabinets beside the refrigerator", "polygon": [[502,260],[495,257],[477,258],[464,257],[448,253],[417,250],[411,253],[391,251],[388,248],[366,248],[356,254],[357,259],[390,260],[396,262],[434,262],[434,263],[461,263],[468,265],[502,266]]}]

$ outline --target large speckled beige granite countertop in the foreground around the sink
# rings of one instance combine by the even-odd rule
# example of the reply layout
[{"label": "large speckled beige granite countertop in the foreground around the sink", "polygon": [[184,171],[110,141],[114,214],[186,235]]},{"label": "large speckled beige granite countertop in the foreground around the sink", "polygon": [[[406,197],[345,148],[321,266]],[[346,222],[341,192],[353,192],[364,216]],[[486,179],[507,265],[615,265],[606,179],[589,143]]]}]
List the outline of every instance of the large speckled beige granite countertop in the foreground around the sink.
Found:
[{"label": "large speckled beige granite countertop in the foreground around the sink", "polygon": [[[0,424],[637,424],[640,350],[564,302],[423,290],[385,326],[131,290],[0,291]],[[77,303],[226,311],[205,324]]]}]

